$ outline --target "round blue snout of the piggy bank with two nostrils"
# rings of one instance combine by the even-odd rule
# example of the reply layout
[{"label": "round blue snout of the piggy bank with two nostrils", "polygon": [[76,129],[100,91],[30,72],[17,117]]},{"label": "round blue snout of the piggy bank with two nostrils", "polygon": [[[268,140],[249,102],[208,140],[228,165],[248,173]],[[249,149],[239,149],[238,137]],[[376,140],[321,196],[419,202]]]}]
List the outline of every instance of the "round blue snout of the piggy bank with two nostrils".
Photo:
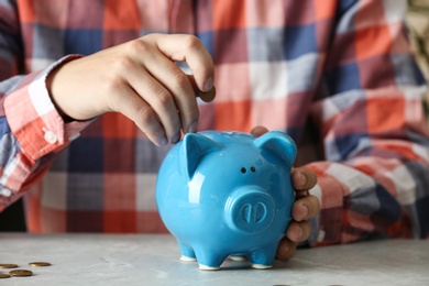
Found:
[{"label": "round blue snout of the piggy bank with two nostrils", "polygon": [[272,224],[276,213],[272,196],[255,186],[232,193],[224,210],[228,226],[244,233],[263,232]]}]

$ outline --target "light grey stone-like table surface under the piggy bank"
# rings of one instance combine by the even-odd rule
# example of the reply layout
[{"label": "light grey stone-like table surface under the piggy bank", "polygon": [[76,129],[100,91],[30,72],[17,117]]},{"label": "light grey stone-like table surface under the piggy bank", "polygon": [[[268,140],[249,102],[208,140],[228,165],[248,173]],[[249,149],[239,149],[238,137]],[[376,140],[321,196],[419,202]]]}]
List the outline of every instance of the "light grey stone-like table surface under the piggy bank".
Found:
[{"label": "light grey stone-like table surface under the piggy bank", "polygon": [[[170,235],[2,233],[0,245],[0,263],[34,273],[0,285],[429,285],[429,241],[302,249],[271,270],[227,260],[219,271],[182,262]],[[33,261],[52,266],[28,266]]]}]

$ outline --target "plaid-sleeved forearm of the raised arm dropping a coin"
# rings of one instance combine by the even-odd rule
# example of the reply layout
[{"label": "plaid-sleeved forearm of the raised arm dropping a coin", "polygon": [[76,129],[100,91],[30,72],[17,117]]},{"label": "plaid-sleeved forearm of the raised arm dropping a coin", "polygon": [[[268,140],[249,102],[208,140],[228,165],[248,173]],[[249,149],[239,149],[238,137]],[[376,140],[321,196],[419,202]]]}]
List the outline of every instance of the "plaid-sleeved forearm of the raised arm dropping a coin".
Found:
[{"label": "plaid-sleeved forearm of the raised arm dropping a coin", "polygon": [[65,124],[52,103],[45,79],[57,64],[0,84],[0,210],[34,184],[89,123]]}]

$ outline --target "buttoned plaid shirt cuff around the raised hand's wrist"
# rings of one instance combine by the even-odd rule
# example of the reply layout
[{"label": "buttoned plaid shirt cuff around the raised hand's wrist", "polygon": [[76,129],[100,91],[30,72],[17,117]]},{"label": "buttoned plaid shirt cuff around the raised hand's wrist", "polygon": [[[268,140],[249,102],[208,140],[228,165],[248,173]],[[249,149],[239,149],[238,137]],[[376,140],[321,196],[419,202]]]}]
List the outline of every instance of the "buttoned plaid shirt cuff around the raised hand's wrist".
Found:
[{"label": "buttoned plaid shirt cuff around the raised hand's wrist", "polygon": [[65,124],[46,88],[47,75],[61,64],[77,57],[79,56],[66,56],[43,72],[29,75],[32,80],[4,99],[9,127],[20,142],[22,152],[32,161],[64,147],[91,122],[75,121]]}]

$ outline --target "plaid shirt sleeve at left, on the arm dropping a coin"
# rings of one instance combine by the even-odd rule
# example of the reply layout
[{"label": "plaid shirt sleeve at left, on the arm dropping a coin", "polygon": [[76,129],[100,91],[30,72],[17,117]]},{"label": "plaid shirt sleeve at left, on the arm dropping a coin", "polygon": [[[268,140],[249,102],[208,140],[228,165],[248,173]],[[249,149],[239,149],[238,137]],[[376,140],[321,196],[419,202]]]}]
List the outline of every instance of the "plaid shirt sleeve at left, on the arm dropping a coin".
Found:
[{"label": "plaid shirt sleeve at left, on the arm dropping a coin", "polygon": [[67,56],[23,75],[23,48],[13,1],[0,3],[0,211],[44,174],[56,153],[89,122],[65,124],[45,79]]}]

